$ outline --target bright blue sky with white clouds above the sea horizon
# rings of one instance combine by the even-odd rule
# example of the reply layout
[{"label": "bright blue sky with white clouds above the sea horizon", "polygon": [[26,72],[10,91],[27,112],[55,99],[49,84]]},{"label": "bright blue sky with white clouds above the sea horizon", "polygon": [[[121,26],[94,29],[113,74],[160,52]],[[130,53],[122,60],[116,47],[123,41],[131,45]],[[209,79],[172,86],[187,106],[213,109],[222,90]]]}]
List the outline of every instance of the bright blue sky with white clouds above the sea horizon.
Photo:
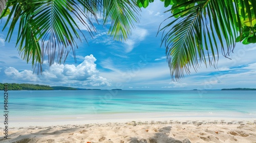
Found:
[{"label": "bright blue sky with white clouds above the sea horizon", "polygon": [[44,64],[42,75],[33,74],[31,63],[20,58],[15,37],[5,41],[6,29],[0,33],[0,82],[132,90],[256,88],[256,44],[237,43],[232,60],[220,55],[218,69],[202,64],[197,72],[191,69],[181,81],[172,81],[161,33],[156,37],[160,23],[170,15],[165,10],[158,1],[142,9],[140,23],[125,42],[112,40],[107,28],[95,25],[94,38],[86,35],[88,43],[77,42],[77,63],[70,53],[64,64]]}]

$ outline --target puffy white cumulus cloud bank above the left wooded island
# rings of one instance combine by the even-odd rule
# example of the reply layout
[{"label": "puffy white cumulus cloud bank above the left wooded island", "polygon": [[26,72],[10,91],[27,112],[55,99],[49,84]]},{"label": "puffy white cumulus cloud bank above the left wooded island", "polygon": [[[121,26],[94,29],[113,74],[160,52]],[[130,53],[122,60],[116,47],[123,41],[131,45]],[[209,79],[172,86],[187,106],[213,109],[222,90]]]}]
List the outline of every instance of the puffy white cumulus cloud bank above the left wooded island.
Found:
[{"label": "puffy white cumulus cloud bank above the left wooded island", "polygon": [[73,64],[45,66],[41,76],[33,74],[31,70],[18,71],[13,67],[7,68],[5,74],[14,80],[27,82],[73,86],[111,86],[106,78],[99,75],[95,61],[96,58],[90,55],[84,57],[84,61],[77,66]]}]

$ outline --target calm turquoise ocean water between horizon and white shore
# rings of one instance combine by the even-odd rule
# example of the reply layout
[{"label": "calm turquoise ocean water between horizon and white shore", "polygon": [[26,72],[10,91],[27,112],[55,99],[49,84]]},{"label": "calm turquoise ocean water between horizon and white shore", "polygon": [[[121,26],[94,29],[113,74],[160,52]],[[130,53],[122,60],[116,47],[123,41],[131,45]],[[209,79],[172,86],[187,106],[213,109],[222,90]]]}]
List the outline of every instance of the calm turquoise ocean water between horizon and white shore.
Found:
[{"label": "calm turquoise ocean water between horizon and white shore", "polygon": [[10,90],[8,93],[8,111],[15,117],[153,112],[256,117],[256,91]]}]

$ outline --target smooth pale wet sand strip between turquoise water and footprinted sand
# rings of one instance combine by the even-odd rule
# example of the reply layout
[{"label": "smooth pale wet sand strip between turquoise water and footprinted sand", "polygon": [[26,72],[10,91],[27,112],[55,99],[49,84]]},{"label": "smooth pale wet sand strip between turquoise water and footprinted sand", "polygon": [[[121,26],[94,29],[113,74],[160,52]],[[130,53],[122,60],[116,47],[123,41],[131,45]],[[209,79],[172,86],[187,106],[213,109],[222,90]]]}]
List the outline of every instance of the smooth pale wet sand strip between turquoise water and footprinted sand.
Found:
[{"label": "smooth pale wet sand strip between turquoise water and footprinted sand", "polygon": [[132,121],[256,121],[255,115],[234,113],[173,113],[173,112],[149,112],[149,113],[109,113],[109,114],[84,114],[84,115],[42,115],[42,116],[10,116],[10,127],[28,126],[54,126],[67,124],[106,124],[125,123]]}]

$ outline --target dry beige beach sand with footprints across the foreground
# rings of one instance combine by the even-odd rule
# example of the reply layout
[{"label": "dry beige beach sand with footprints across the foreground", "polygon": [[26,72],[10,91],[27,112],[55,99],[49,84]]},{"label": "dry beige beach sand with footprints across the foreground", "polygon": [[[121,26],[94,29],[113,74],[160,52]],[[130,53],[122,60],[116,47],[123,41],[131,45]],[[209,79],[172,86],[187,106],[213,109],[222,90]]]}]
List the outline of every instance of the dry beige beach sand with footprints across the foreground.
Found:
[{"label": "dry beige beach sand with footprints across the foreground", "polygon": [[[223,119],[223,120],[222,120]],[[70,121],[69,121],[70,122]],[[254,142],[255,118],[145,118],[15,124],[0,142]],[[27,122],[28,123],[28,122]],[[90,123],[90,124],[87,124]],[[36,125],[38,124],[38,125]],[[55,124],[55,125],[54,125]],[[49,126],[48,126],[49,125]],[[19,127],[18,127],[19,126]]]}]

